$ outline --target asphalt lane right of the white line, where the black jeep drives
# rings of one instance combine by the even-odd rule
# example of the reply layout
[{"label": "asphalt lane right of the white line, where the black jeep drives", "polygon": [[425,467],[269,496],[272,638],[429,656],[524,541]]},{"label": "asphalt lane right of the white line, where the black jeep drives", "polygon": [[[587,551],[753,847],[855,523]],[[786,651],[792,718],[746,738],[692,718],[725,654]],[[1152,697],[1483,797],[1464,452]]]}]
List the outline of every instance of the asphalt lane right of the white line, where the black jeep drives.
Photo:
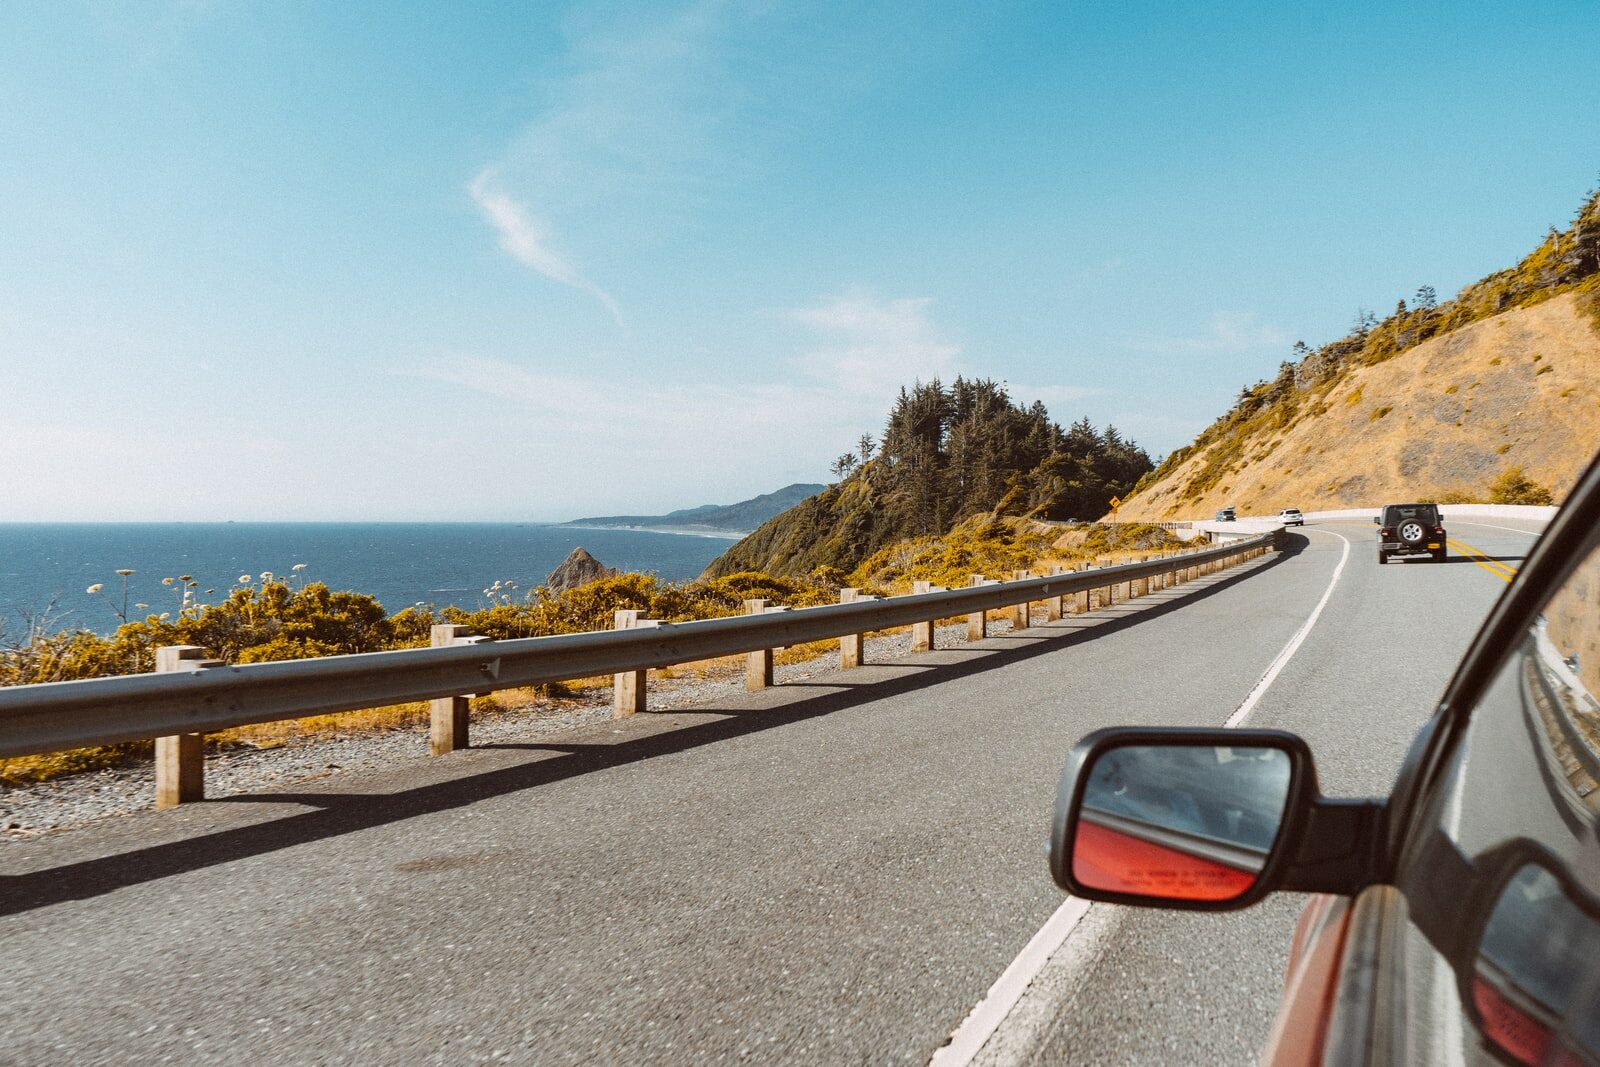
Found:
[{"label": "asphalt lane right of the white line, where the black jeep drives", "polygon": [[[1370,525],[1304,533],[1309,547],[1296,563],[1323,587],[1344,547],[1338,536],[1352,542],[1350,560],[1317,625],[1242,725],[1306,737],[1325,793],[1382,795],[1506,581],[1456,550],[1445,565],[1379,566]],[[1510,568],[1534,537],[1464,522],[1450,533]],[[1290,621],[1309,613],[1288,590],[1283,609]],[[1082,934],[1091,952],[1058,953],[979,1062],[1254,1062],[1304,901],[1285,893],[1226,915],[1098,905]]]}]

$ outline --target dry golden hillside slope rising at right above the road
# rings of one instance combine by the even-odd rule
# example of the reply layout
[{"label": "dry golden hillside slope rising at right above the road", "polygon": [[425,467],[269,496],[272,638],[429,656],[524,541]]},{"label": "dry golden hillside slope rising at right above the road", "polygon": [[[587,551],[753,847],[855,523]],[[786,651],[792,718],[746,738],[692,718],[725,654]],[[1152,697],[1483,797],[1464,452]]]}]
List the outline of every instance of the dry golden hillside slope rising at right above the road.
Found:
[{"label": "dry golden hillside slope rising at right above the road", "polygon": [[1600,194],[1517,267],[1445,304],[1418,296],[1318,350],[1298,346],[1118,518],[1486,501],[1517,469],[1560,499],[1600,448]]}]

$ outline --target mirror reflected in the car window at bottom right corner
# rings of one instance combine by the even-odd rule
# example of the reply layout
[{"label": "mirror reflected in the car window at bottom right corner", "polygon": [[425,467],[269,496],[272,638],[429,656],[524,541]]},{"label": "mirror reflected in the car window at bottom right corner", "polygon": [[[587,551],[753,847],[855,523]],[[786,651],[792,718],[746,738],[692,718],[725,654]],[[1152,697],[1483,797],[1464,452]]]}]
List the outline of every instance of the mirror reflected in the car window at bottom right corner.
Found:
[{"label": "mirror reflected in the car window at bottom right corner", "polygon": [[1494,901],[1470,976],[1483,1037],[1518,1064],[1597,1062],[1597,955],[1600,921],[1549,870],[1520,867]]}]

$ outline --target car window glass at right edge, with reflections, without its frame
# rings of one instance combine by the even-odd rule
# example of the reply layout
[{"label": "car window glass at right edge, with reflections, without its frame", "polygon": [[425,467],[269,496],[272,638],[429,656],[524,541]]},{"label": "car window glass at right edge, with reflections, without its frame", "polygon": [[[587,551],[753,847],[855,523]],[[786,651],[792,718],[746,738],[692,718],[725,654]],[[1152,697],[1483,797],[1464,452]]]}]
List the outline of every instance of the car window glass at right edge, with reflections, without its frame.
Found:
[{"label": "car window glass at right edge, with reflections, without its frame", "polygon": [[1418,1062],[1600,1064],[1597,536],[1472,709],[1402,857]]}]

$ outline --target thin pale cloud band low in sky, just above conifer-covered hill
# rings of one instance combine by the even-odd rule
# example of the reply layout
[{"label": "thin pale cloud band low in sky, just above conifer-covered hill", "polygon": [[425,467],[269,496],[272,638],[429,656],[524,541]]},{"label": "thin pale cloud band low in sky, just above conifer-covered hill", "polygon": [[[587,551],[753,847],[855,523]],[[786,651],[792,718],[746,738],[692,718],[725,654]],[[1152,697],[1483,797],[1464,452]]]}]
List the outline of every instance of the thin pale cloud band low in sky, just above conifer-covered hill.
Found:
[{"label": "thin pale cloud band low in sky, just above conifer-covered hill", "polygon": [[[718,378],[658,381],[648,390],[590,363],[584,374],[525,360],[451,352],[402,371],[459,387],[494,403],[483,424],[504,424],[546,467],[584,470],[632,483],[683,478],[718,469],[726,456],[750,472],[821,478],[827,464],[862,432],[877,434],[902,386],[950,381],[973,370],[962,347],[934,322],[928,298],[878,298],[862,290],[784,312],[794,355],[781,378],[730,384]],[[1024,403],[1066,410],[1091,390],[1074,386],[1010,386]],[[594,450],[597,427],[610,443]],[[600,470],[614,464],[616,470]],[[755,486],[758,488],[758,486]]]}]

